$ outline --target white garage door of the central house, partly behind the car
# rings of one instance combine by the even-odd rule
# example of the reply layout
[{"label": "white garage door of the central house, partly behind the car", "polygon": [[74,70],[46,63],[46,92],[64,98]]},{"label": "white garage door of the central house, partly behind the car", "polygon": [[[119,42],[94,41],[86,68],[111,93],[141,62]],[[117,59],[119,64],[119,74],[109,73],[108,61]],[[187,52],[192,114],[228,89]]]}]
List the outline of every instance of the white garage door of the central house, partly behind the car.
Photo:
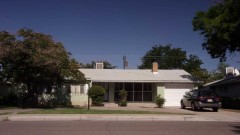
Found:
[{"label": "white garage door of the central house, partly behind the car", "polygon": [[180,106],[180,100],[183,95],[192,88],[192,84],[165,84],[165,106]]}]

